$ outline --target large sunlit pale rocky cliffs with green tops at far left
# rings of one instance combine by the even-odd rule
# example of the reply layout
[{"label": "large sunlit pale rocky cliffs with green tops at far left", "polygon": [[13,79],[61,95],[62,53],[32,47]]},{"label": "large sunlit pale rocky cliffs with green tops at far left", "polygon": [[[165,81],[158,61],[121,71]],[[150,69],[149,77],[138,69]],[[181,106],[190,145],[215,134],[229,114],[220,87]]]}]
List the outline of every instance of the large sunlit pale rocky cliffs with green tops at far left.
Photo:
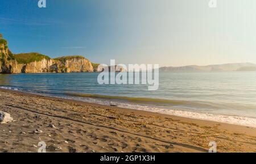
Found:
[{"label": "large sunlit pale rocky cliffs with green tops at far left", "polygon": [[92,63],[82,56],[51,59],[39,53],[12,54],[0,38],[0,73],[93,72]]}]

